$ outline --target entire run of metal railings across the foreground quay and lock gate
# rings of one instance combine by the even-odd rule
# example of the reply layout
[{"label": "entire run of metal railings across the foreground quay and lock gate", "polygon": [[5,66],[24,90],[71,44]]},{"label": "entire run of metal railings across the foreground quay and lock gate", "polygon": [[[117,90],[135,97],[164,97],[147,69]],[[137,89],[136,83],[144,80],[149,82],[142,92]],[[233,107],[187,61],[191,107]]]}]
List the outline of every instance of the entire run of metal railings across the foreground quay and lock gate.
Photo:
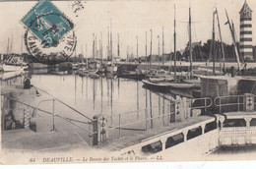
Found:
[{"label": "entire run of metal railings across the foreground quay and lock gate", "polygon": [[[100,141],[100,138],[106,136],[105,132],[109,131],[110,139],[115,140],[119,139],[123,136],[128,136],[134,134],[133,132],[143,133],[149,129],[158,128],[160,126],[169,125],[170,123],[177,122],[179,116],[183,116],[184,119],[193,116],[193,110],[203,110],[207,112],[208,108],[212,107],[213,100],[210,97],[204,98],[194,98],[194,99],[187,99],[185,100],[177,100],[175,102],[167,102],[166,104],[155,106],[155,107],[146,107],[144,109],[129,111],[124,113],[119,113],[117,115],[112,115],[107,118],[107,120],[113,121],[113,124],[103,124],[98,119],[100,117],[96,117],[91,119],[84,115],[83,113],[79,112],[78,110],[74,109],[73,107],[67,105],[66,103],[56,99],[45,99],[41,100],[37,103],[35,107],[32,105],[23,103],[18,99],[9,98],[12,100],[17,101],[20,104],[24,104],[27,107],[32,108],[33,113],[37,115],[38,118],[48,118],[48,121],[51,121],[52,129],[56,129],[57,125],[63,125],[59,120],[63,120],[68,124],[79,128],[83,131],[84,135],[87,136],[86,141],[89,142],[91,145],[96,145]],[[254,95],[229,95],[229,96],[219,96],[215,98],[214,105],[219,107],[221,113],[229,112],[229,111],[242,111],[244,109],[252,109],[255,110],[255,102],[256,96]],[[183,103],[182,103],[183,101]],[[40,109],[40,106],[43,102],[52,102],[52,109],[51,110],[43,110]],[[74,118],[74,117],[67,117],[59,114],[56,111],[55,106],[56,103],[61,105],[65,105],[71,110],[71,112],[75,112],[81,118]],[[183,104],[183,105],[182,105]],[[179,105],[179,106],[178,106]],[[253,106],[251,106],[253,105]],[[183,114],[178,114],[178,110],[180,106],[183,106]],[[184,107],[185,106],[185,107]],[[51,108],[48,106],[48,109]],[[34,115],[33,114],[33,115]],[[32,115],[32,116],[33,116]],[[59,121],[59,122],[57,122]],[[104,121],[104,118],[101,119]],[[42,122],[43,119],[42,119]],[[101,123],[101,124],[100,124]],[[42,123],[42,126],[45,124]],[[102,128],[101,128],[102,127]],[[102,130],[105,130],[102,132]],[[118,132],[116,132],[118,130]],[[124,132],[125,131],[125,132]],[[108,140],[108,139],[106,139]],[[106,141],[104,140],[104,141]]]}]

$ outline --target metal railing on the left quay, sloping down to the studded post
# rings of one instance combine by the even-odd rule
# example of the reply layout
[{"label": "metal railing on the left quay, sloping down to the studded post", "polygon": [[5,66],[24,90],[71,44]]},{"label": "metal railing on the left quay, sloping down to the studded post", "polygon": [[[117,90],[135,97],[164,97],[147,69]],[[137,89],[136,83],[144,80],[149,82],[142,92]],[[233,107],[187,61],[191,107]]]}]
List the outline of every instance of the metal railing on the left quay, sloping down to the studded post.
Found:
[{"label": "metal railing on the left quay, sloping down to the studded post", "polygon": [[[57,126],[56,126],[57,121],[63,120],[68,124],[83,130],[84,136],[85,136],[85,138],[83,139],[85,139],[85,141],[89,142],[90,144],[93,144],[93,136],[96,133],[93,132],[92,126],[94,125],[95,120],[85,116],[83,113],[67,105],[66,103],[56,98],[50,98],[50,99],[41,100],[37,103],[36,106],[32,106],[26,102],[19,100],[18,98],[12,98],[8,95],[4,95],[4,96],[6,96],[6,98],[9,99],[10,101],[16,102],[16,104],[23,105],[24,111],[32,112],[32,113],[25,112],[24,125],[23,125],[24,128],[31,128],[35,132],[49,132],[49,131],[55,130],[56,128],[61,129],[63,127],[64,128],[66,127],[66,129],[69,128],[70,127],[69,125],[63,124],[60,122],[57,123]],[[44,109],[41,109],[40,105],[44,102],[47,102],[47,103],[52,102],[52,110],[45,109],[45,108],[49,109],[49,104],[47,104],[47,106],[45,106]],[[75,118],[70,118],[70,117],[60,115],[55,109],[56,102],[68,107],[71,110],[71,112],[69,111],[69,113],[75,112],[76,114],[79,114],[85,119],[80,118],[78,120]],[[21,106],[18,106],[18,107],[21,107]],[[28,109],[31,109],[32,111],[29,111]]]}]

